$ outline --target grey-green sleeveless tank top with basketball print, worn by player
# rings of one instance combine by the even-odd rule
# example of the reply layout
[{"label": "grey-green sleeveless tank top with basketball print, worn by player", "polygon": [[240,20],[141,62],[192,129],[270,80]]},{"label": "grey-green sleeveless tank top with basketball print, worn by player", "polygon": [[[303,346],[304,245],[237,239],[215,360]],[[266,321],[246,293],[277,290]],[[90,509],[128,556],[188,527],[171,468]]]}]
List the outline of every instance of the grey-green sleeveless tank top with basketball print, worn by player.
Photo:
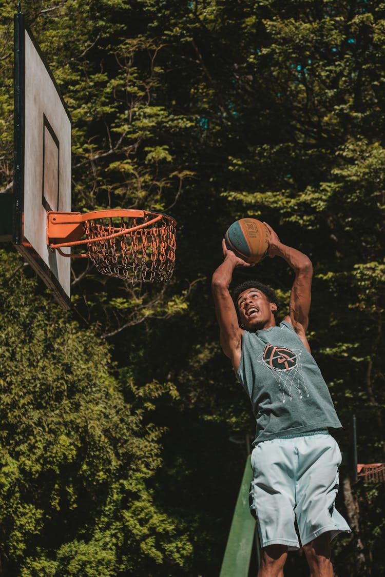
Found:
[{"label": "grey-green sleeveless tank top with basketball print, worn by player", "polygon": [[237,377],[256,418],[254,443],[342,428],[320,369],[287,321],[244,331]]}]

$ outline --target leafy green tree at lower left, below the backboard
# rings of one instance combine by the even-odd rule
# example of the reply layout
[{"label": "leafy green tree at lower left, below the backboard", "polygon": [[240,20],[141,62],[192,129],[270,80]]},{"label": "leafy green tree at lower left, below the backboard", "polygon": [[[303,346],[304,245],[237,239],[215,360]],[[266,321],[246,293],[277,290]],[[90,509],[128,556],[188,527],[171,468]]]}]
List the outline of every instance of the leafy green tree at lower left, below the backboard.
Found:
[{"label": "leafy green tree at lower left, below the backboard", "polygon": [[123,389],[95,327],[47,308],[20,258],[0,267],[1,574],[177,574],[191,545],[148,486],[151,387]]}]

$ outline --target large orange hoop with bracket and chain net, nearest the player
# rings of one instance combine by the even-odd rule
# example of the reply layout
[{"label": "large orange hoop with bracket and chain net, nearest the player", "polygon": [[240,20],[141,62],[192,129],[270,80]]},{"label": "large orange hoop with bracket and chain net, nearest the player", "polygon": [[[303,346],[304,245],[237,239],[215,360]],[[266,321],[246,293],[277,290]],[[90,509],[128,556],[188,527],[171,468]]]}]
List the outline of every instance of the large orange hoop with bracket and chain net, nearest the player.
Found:
[{"label": "large orange hoop with bracket and chain net, nearest the player", "polygon": [[[47,245],[62,256],[89,258],[103,275],[132,283],[170,280],[175,220],[158,212],[112,209],[48,212]],[[63,252],[82,246],[82,253]]]}]

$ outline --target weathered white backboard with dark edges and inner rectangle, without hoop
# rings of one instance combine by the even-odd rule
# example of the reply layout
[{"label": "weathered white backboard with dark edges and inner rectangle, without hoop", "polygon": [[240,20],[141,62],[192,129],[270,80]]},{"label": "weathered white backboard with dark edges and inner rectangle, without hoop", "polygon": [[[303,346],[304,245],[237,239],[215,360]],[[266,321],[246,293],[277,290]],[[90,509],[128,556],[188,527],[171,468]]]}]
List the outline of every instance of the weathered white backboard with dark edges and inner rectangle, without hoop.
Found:
[{"label": "weathered white backboard with dark edges and inner rectangle, without hoop", "polygon": [[70,302],[70,258],[47,246],[47,212],[70,209],[70,114],[24,15],[18,13],[14,18],[12,241],[65,308]]}]

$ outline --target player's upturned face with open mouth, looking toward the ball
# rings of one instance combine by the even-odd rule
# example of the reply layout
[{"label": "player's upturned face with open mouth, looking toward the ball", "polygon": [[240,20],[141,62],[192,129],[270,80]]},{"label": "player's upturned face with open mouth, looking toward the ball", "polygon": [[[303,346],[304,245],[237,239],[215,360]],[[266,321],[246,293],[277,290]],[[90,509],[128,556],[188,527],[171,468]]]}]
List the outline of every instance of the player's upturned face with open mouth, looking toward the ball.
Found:
[{"label": "player's upturned face with open mouth, looking toward the ball", "polygon": [[270,302],[266,294],[257,288],[247,288],[237,300],[241,327],[246,331],[257,331],[275,327],[275,302]]}]

